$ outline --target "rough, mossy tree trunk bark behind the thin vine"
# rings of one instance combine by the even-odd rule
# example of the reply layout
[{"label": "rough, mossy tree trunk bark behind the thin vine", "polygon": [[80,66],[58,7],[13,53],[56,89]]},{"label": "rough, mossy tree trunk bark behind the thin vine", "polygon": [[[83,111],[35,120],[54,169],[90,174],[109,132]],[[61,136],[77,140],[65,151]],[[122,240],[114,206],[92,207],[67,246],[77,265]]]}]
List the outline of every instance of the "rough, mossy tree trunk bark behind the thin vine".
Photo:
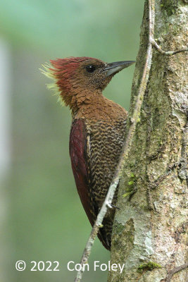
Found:
[{"label": "rough, mossy tree trunk bark behind the thin vine", "polygon": [[[155,39],[162,49],[186,47],[186,1],[156,0]],[[148,44],[148,6],[132,85],[130,111],[142,77]],[[187,52],[165,56],[153,50],[129,158],[118,192],[108,282],[185,282],[187,268]],[[178,269],[177,269],[178,270]],[[170,279],[170,275],[172,278]]]}]

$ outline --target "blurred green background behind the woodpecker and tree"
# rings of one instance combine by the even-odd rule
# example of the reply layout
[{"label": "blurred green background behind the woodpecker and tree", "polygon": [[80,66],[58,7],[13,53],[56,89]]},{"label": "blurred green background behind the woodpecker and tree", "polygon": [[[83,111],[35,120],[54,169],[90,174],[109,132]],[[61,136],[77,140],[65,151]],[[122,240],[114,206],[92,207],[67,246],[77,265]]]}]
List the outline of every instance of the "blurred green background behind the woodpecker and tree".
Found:
[{"label": "blurred green background behind the woodpecker and tree", "polygon": [[[68,153],[70,112],[46,90],[39,72],[49,59],[91,56],[134,60],[144,0],[7,0],[0,8],[0,281],[73,281],[91,226],[75,188]],[[104,94],[129,108],[134,66]],[[16,271],[23,259],[25,271]],[[93,271],[109,253],[99,240],[83,282],[106,281]],[[58,261],[60,271],[30,271],[30,262]]]}]

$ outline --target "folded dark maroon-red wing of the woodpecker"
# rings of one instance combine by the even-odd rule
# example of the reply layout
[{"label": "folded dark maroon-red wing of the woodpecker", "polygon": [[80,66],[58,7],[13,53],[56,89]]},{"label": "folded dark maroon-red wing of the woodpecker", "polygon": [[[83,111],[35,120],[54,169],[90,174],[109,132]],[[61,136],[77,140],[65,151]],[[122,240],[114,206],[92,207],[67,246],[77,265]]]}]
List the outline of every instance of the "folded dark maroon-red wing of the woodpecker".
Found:
[{"label": "folded dark maroon-red wing of the woodpecker", "polygon": [[77,192],[88,216],[90,223],[94,224],[95,214],[92,209],[92,190],[89,188],[88,148],[89,135],[83,119],[73,121],[70,130],[70,159],[77,186]]}]

